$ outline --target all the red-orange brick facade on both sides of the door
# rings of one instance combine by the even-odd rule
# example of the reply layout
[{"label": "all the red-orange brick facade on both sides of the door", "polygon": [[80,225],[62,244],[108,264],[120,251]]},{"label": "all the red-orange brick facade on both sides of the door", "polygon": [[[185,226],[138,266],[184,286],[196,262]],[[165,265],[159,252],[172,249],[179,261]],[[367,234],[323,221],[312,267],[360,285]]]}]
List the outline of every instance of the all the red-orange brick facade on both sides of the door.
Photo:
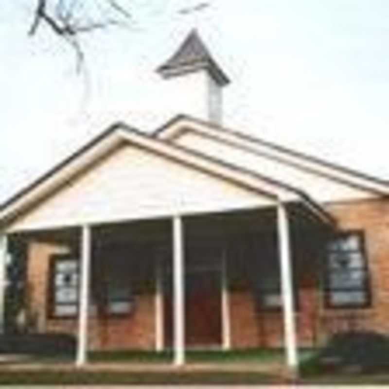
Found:
[{"label": "all the red-orange brick facade on both sides of the door", "polygon": [[[363,230],[371,277],[371,306],[364,309],[324,308],[317,279],[307,271],[299,276],[298,339],[300,345],[314,345],[333,332],[353,328],[389,333],[389,201],[365,200],[326,206],[340,230]],[[49,256],[66,248],[31,242],[28,258],[30,316],[40,332],[76,333],[75,319],[47,318]],[[92,349],[154,349],[154,291],[136,296],[137,309],[125,318],[97,318],[89,321]],[[231,289],[230,324],[232,348],[278,347],[283,345],[282,312],[258,312],[248,287]]]}]

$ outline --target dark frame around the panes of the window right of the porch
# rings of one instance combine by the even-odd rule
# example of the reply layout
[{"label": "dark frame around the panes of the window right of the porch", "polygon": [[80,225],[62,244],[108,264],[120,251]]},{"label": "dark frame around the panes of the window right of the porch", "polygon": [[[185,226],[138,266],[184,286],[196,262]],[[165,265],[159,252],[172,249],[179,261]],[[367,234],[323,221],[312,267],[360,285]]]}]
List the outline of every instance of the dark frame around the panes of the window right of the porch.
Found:
[{"label": "dark frame around the panes of the window right of the porch", "polygon": [[[331,250],[328,245],[336,239],[341,239],[349,236],[356,236],[358,238],[359,248],[356,250]],[[359,253],[362,256],[363,265],[354,269],[360,269],[364,273],[363,287],[350,288],[330,286],[330,278],[333,270],[330,267],[330,254],[336,252]],[[332,271],[331,271],[332,270]],[[343,230],[331,235],[325,246],[325,264],[324,264],[324,307],[327,309],[366,309],[371,307],[371,281],[369,259],[366,250],[365,231],[364,230]],[[331,299],[333,292],[363,292],[365,294],[365,301],[361,303],[345,303],[334,304]]]}]

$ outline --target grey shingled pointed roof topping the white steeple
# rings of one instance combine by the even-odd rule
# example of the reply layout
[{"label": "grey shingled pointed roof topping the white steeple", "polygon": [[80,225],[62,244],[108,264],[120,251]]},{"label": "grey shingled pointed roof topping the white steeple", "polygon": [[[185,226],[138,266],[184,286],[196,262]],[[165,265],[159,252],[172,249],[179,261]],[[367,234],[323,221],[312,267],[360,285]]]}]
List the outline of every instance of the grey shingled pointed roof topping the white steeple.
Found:
[{"label": "grey shingled pointed roof topping the white steeple", "polygon": [[157,71],[164,78],[186,74],[205,69],[210,72],[214,80],[221,86],[230,83],[227,75],[212,58],[207,47],[194,29],[184,42]]}]

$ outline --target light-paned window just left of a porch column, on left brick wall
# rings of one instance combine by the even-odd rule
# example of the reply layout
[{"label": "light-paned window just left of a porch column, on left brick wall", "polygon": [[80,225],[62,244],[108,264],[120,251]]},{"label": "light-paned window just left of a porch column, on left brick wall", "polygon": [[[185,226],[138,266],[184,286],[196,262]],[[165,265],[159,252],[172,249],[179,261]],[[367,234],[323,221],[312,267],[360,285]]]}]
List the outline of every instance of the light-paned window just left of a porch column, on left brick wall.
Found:
[{"label": "light-paned window just left of a porch column, on left brick wall", "polygon": [[73,317],[78,310],[78,261],[70,257],[57,257],[52,266],[52,314]]}]

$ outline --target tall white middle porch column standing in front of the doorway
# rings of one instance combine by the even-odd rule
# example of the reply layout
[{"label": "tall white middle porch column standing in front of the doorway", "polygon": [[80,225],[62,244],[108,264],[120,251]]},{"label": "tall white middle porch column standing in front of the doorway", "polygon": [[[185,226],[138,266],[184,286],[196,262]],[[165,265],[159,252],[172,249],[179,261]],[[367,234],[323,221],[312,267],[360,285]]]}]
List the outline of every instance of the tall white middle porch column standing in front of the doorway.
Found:
[{"label": "tall white middle porch column standing in front of the doorway", "polygon": [[184,285],[184,242],[180,216],[173,217],[173,323],[174,363],[185,363],[185,285]]}]

